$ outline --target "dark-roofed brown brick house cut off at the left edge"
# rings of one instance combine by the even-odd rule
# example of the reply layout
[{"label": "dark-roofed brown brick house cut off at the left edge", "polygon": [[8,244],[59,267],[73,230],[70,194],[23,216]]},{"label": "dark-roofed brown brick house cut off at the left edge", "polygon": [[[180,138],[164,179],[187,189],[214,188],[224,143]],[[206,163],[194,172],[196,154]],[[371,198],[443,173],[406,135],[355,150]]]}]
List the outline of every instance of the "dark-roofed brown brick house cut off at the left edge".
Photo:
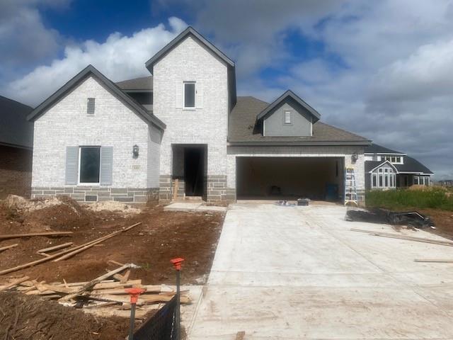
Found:
[{"label": "dark-roofed brown brick house cut off at the left edge", "polygon": [[30,196],[33,123],[26,118],[32,110],[0,96],[0,199]]}]

